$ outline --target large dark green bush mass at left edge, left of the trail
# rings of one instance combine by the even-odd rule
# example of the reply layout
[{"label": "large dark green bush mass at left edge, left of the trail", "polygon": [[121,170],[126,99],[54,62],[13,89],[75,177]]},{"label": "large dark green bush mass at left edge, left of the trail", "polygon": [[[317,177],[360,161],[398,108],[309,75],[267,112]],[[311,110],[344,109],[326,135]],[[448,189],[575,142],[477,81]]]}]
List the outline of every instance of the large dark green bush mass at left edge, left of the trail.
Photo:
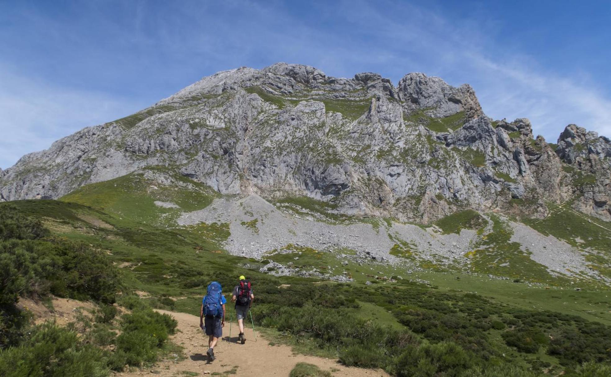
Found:
[{"label": "large dark green bush mass at left edge, left of the trail", "polygon": [[0,204],[0,349],[15,346],[28,324],[20,296],[57,296],[114,302],[118,271],[104,253],[51,237],[39,220]]}]

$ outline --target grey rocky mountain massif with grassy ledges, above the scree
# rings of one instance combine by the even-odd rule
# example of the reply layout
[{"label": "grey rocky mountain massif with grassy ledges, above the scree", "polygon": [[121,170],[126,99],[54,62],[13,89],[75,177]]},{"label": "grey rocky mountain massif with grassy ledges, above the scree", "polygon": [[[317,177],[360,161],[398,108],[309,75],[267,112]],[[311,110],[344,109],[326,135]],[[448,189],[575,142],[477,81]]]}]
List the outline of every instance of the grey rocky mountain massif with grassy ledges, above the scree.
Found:
[{"label": "grey rocky mountain massif with grassy ledges, above the scree", "polygon": [[474,209],[611,220],[611,141],[571,124],[556,144],[493,121],[469,85],[352,79],[305,65],[222,71],[0,170],[0,200],[59,198],[162,165],[221,194],[308,196],[329,212],[430,223]]}]

